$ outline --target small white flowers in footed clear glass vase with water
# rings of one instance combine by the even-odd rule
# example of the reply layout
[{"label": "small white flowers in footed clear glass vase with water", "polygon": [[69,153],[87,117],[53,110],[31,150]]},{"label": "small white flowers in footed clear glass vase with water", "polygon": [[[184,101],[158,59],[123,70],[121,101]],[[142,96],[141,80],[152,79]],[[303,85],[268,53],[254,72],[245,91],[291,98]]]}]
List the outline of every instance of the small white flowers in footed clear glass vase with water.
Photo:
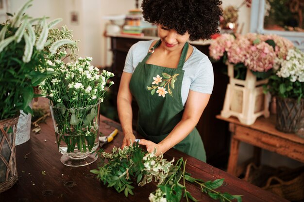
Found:
[{"label": "small white flowers in footed clear glass vase with water", "polygon": [[[59,58],[64,58],[66,54],[65,51],[58,53]],[[90,57],[78,58],[78,61],[69,63],[49,60],[51,68],[48,70],[54,74],[39,85],[41,94],[51,101],[58,148],[67,155],[63,156],[66,161],[61,158],[65,165],[68,165],[70,157],[84,159],[97,149],[99,104],[103,102],[108,87],[114,84],[111,81],[107,85],[113,73],[103,70],[100,75],[100,70],[91,65],[90,61]],[[78,163],[77,166],[82,163],[87,165],[87,162]]]}]

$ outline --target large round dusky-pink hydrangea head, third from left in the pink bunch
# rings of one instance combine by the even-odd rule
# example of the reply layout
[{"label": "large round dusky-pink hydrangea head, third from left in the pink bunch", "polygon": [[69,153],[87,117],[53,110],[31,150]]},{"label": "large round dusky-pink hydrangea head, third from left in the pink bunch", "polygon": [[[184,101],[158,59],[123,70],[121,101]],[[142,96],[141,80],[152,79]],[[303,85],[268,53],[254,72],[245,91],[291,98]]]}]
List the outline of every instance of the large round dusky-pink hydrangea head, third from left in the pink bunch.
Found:
[{"label": "large round dusky-pink hydrangea head, third from left in the pink bunch", "polygon": [[247,51],[244,61],[245,66],[254,72],[267,72],[273,67],[275,52],[266,42],[260,42],[251,46]]}]

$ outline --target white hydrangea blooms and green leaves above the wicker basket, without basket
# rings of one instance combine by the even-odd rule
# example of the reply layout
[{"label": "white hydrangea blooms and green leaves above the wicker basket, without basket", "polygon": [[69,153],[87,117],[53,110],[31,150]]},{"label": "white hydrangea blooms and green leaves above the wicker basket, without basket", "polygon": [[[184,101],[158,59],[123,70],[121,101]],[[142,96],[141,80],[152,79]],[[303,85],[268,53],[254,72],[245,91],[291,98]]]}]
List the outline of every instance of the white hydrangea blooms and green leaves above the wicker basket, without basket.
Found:
[{"label": "white hydrangea blooms and green leaves above the wicker basket, without basket", "polygon": [[297,48],[289,49],[286,59],[278,60],[276,73],[269,78],[268,86],[265,86],[264,90],[282,98],[302,99],[304,97],[304,53]]}]

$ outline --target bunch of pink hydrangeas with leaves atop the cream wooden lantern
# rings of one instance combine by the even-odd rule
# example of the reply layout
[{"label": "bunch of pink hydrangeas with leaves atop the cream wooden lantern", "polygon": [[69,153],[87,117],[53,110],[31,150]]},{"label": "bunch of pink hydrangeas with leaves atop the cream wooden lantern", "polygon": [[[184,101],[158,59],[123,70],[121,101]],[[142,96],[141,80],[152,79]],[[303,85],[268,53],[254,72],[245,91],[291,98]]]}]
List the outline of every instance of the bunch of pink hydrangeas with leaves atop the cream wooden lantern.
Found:
[{"label": "bunch of pink hydrangeas with leaves atop the cream wooden lantern", "polygon": [[236,78],[244,79],[249,68],[257,78],[268,78],[278,60],[285,59],[294,45],[277,35],[247,33],[245,35],[222,34],[210,47],[210,57],[216,61],[234,65]]}]

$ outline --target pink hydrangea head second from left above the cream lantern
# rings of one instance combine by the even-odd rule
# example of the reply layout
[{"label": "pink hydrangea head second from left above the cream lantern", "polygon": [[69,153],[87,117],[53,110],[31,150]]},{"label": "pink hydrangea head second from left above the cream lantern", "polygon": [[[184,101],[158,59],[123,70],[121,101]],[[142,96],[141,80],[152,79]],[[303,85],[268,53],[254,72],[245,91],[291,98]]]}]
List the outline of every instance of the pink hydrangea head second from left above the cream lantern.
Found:
[{"label": "pink hydrangea head second from left above the cream lantern", "polygon": [[246,37],[238,36],[227,51],[228,61],[234,64],[244,62],[247,57],[246,52],[250,46],[251,43]]}]

